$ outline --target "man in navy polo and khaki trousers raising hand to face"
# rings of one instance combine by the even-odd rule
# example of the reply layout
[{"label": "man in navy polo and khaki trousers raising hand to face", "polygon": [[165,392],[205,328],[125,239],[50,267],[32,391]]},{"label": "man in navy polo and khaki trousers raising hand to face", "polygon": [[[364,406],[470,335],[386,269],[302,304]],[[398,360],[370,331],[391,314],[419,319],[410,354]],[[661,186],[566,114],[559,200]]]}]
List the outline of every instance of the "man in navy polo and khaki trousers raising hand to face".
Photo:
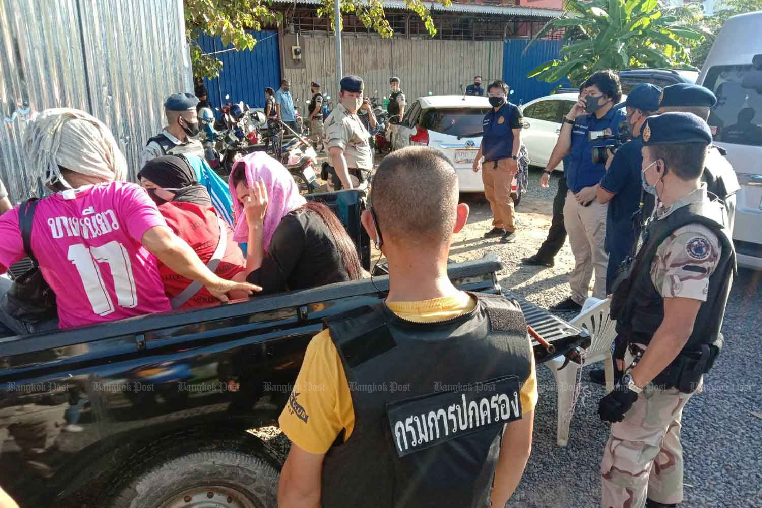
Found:
[{"label": "man in navy polo and khaki trousers raising hand to face", "polygon": [[[626,118],[624,108],[613,108],[622,98],[622,86],[614,72],[595,72],[583,86],[586,96],[566,115],[559,135],[561,149],[553,153],[559,160],[569,155],[568,167],[564,167],[568,186],[564,225],[575,257],[569,280],[571,296],[554,305],[553,311],[579,311],[588,298],[593,273],[593,296],[606,297],[608,255],[604,241],[607,205],[595,200],[597,184],[604,177],[606,168],[603,162],[593,162],[592,151],[594,146],[606,143],[597,139],[604,130],[616,130]],[[552,163],[549,161],[549,165]]]}]

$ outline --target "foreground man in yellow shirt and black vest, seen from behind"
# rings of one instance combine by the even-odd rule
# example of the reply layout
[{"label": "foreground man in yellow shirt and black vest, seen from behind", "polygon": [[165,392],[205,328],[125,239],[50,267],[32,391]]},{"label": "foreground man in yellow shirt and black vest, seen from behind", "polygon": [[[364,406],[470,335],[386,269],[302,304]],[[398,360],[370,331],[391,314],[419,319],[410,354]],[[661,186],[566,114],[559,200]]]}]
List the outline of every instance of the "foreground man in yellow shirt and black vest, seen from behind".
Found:
[{"label": "foreground man in yellow shirt and black vest, seen from behind", "polygon": [[[421,182],[440,190],[421,193]],[[504,506],[530,454],[536,375],[517,302],[447,277],[469,209],[445,155],[383,159],[362,222],[389,264],[384,302],[332,318],[280,428],[280,508]]]}]

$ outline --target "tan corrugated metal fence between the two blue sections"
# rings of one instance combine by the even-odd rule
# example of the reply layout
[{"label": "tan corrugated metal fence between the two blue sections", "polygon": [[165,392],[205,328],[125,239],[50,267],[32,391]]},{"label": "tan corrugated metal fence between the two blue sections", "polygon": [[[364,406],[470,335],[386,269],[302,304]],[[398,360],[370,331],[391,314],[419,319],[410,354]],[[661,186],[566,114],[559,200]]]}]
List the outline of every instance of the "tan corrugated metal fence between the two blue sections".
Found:
[{"label": "tan corrugated metal fence between the two blue sections", "polygon": [[[319,81],[323,93],[338,99],[335,37],[301,34],[305,69],[288,69],[291,94],[301,97],[303,114],[309,99],[309,84]],[[359,75],[368,97],[389,96],[389,78],[402,80],[408,103],[427,95],[462,94],[475,75],[498,79],[503,75],[503,42],[500,40],[415,40],[402,37],[381,39],[360,34],[341,37],[344,75]],[[463,88],[460,86],[463,85]],[[334,106],[337,101],[334,101]]]}]

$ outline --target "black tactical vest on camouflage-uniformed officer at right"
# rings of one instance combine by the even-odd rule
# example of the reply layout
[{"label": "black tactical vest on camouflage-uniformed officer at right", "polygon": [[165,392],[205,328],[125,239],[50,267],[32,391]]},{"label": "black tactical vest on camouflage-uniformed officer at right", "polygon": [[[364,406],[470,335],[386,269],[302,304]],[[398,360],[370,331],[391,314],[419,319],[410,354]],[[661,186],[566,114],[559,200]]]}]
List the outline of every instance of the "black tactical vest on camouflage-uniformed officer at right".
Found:
[{"label": "black tactical vest on camouflage-uniformed officer at right", "polygon": [[615,283],[611,316],[616,319],[617,333],[626,337],[629,343],[647,345],[651,341],[664,319],[664,299],[651,280],[651,265],[656,250],[677,228],[701,224],[717,235],[722,253],[717,267],[709,276],[706,302],[699,308],[693,334],[683,351],[696,351],[707,344],[714,347],[715,356],[719,353],[722,348],[722,318],[735,271],[735,250],[725,222],[724,207],[717,201],[707,200],[681,206],[666,218],[648,223],[644,243],[632,261],[629,276],[622,283]]}]

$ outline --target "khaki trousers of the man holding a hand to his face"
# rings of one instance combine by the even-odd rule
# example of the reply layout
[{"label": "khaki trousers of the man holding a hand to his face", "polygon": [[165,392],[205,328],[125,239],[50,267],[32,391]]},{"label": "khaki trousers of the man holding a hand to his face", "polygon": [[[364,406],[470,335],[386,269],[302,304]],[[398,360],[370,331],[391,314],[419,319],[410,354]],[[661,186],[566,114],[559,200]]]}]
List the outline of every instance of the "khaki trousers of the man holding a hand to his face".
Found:
[{"label": "khaki trousers of the man holding a hand to his face", "polygon": [[602,205],[596,200],[589,206],[582,206],[577,203],[571,190],[566,194],[564,225],[571,244],[571,254],[574,254],[574,270],[571,271],[569,285],[571,299],[579,305],[588,299],[593,273],[593,296],[598,299],[606,298],[609,255],[604,249],[604,240],[608,207],[608,203]]}]

